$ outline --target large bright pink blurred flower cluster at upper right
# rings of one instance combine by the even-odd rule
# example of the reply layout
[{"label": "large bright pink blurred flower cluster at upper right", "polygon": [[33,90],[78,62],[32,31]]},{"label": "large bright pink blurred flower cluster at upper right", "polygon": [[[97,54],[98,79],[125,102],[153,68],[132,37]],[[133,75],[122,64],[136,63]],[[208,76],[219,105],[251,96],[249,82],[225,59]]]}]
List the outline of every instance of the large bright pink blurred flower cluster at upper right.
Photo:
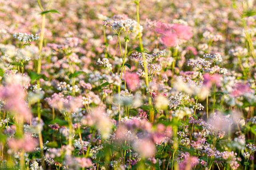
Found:
[{"label": "large bright pink blurred flower cluster at upper right", "polygon": [[190,26],[161,22],[157,23],[156,32],[161,34],[161,41],[167,47],[174,47],[179,40],[189,40],[193,35]]}]

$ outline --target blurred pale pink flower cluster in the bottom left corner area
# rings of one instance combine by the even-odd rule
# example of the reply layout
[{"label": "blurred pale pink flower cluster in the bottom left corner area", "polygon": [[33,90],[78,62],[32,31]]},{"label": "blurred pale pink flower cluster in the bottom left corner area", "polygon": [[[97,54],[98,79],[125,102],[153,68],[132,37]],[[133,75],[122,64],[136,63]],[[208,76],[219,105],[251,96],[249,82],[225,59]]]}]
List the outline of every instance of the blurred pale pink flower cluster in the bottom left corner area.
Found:
[{"label": "blurred pale pink flower cluster in the bottom left corner area", "polygon": [[32,152],[37,145],[38,141],[30,133],[25,133],[21,139],[8,140],[8,146],[15,151],[23,149],[25,152]]}]

